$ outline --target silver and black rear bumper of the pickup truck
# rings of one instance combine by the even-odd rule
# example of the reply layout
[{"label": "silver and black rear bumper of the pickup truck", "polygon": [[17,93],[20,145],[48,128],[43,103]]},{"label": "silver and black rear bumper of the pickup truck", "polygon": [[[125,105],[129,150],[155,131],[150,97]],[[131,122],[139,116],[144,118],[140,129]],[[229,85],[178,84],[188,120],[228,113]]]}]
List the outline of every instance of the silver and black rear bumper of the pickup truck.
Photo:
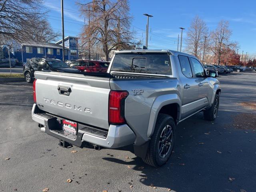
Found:
[{"label": "silver and black rear bumper of the pickup truck", "polygon": [[42,125],[42,132],[46,132],[55,138],[64,140],[78,147],[82,146],[82,142],[89,142],[106,148],[119,148],[133,144],[136,139],[134,132],[126,124],[120,126],[110,125],[106,138],[102,138],[96,134],[80,129],[84,125],[79,123],[77,135],[74,138],[68,138],[54,131],[55,127],[58,126],[57,117],[46,113],[43,114],[39,111],[36,104],[34,104],[32,108],[32,119]]}]

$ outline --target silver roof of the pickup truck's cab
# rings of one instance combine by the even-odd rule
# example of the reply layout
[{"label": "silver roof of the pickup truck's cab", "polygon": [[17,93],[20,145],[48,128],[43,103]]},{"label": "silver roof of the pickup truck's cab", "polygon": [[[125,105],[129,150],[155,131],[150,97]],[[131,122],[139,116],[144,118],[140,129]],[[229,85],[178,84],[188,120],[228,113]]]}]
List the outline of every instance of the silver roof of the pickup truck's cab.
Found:
[{"label": "silver roof of the pickup truck's cab", "polygon": [[136,53],[136,52],[145,52],[145,53],[150,53],[150,52],[154,52],[154,53],[169,53],[172,55],[185,55],[185,56],[190,56],[190,57],[194,57],[196,58],[194,55],[190,55],[188,53],[184,53],[184,52],[179,52],[179,51],[174,51],[174,50],[168,50],[168,49],[138,49],[138,50],[120,50],[120,51],[116,51],[115,53]]}]

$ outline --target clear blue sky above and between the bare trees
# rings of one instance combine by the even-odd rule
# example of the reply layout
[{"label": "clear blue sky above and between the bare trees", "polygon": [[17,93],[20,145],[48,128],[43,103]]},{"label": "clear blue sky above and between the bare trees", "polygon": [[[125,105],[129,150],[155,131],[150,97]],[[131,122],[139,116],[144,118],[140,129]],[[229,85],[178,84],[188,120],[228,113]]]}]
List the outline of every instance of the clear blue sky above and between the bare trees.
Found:
[{"label": "clear blue sky above and between the bare trees", "polygon": [[[84,18],[80,16],[75,2],[76,0],[64,0],[65,36],[78,36],[84,24]],[[46,0],[44,7],[50,10],[48,20],[52,28],[61,32],[60,1]],[[244,50],[244,53],[256,54],[255,10],[254,0],[239,1],[239,3],[234,0],[130,0],[132,28],[137,32],[138,38],[142,39],[143,35],[144,42],[147,20],[143,14],[154,16],[149,21],[151,32],[148,48],[152,49],[176,50],[179,27],[187,29],[192,18],[198,15],[206,22],[209,30],[214,30],[218,21],[228,20],[232,30],[231,40],[238,42],[239,52],[242,53]],[[186,30],[183,37],[186,38]]]}]

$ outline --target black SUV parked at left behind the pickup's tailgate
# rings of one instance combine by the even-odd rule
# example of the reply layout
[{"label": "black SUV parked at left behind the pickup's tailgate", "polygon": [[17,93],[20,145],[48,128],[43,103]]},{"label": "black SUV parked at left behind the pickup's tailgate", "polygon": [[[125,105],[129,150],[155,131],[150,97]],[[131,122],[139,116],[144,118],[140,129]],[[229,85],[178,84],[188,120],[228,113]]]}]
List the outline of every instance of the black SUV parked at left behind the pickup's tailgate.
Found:
[{"label": "black SUV parked at left behind the pickup's tailgate", "polygon": [[23,66],[23,74],[26,82],[34,81],[35,71],[55,71],[55,72],[72,72],[79,73],[77,69],[70,68],[66,63],[59,59],[31,58]]}]

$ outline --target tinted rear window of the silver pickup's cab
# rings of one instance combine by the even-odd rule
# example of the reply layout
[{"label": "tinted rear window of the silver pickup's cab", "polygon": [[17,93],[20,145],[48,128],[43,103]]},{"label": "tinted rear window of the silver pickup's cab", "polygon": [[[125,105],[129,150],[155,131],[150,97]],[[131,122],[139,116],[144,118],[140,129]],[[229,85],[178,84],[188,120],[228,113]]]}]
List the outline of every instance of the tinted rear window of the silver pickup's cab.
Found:
[{"label": "tinted rear window of the silver pickup's cab", "polygon": [[171,75],[170,56],[166,53],[116,54],[112,71]]}]

